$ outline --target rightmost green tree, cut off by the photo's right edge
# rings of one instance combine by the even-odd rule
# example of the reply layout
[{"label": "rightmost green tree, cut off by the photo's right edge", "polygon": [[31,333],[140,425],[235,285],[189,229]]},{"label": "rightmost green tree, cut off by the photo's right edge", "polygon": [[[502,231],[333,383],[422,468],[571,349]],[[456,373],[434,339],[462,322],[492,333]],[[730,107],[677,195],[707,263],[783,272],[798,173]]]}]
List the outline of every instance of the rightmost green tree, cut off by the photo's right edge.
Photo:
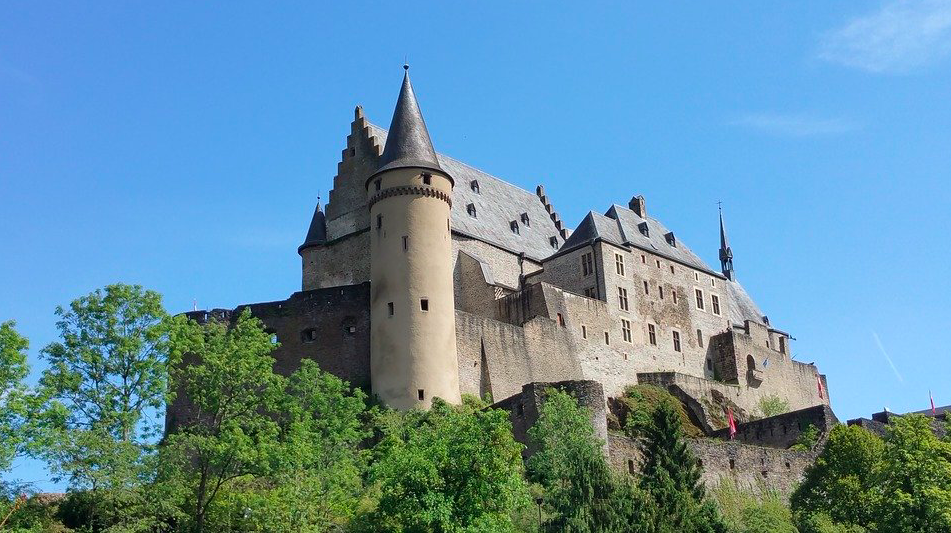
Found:
[{"label": "rightmost green tree, cut off by the photo's right edge", "polygon": [[951,444],[935,436],[931,419],[906,415],[889,424],[876,477],[878,531],[951,531]]}]

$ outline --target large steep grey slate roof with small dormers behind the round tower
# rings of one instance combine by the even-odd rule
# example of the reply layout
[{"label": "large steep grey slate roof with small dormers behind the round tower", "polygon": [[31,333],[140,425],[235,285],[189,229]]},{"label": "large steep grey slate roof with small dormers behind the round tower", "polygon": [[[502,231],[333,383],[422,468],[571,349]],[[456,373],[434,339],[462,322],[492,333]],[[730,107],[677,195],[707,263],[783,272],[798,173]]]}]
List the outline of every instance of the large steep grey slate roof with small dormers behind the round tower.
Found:
[{"label": "large steep grey slate roof with small dormers behind the round tower", "polygon": [[[387,131],[370,124],[370,134],[387,140]],[[452,230],[457,233],[493,244],[514,253],[524,253],[537,262],[557,251],[551,245],[554,237],[558,246],[565,240],[559,235],[551,215],[537,194],[516,187],[491,174],[436,154],[443,171],[455,179],[452,190]],[[479,192],[472,190],[472,182],[479,184]],[[469,216],[467,207],[475,206],[476,216]],[[522,222],[528,215],[528,226]],[[510,224],[518,223],[518,234]]]}]

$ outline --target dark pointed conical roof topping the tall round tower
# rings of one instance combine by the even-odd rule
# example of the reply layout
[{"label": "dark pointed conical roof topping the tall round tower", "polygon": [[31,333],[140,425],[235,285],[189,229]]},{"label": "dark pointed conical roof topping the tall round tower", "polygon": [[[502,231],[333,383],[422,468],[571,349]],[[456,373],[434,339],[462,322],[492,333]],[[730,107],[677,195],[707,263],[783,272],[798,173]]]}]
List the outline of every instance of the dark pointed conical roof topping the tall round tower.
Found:
[{"label": "dark pointed conical roof topping the tall round tower", "polygon": [[386,135],[380,167],[374,175],[394,168],[428,168],[445,173],[436,159],[436,150],[433,149],[426,122],[416,102],[416,93],[409,81],[409,65],[403,65],[403,68],[406,70],[403,87]]}]

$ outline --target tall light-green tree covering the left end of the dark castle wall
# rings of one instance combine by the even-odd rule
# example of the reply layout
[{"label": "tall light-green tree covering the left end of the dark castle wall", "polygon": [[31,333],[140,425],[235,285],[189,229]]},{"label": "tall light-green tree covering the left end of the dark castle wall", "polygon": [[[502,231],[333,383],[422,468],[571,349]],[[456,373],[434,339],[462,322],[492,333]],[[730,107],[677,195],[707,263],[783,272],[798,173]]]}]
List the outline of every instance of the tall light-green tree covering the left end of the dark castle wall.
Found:
[{"label": "tall light-green tree covering the left end of the dark castle wall", "polygon": [[[166,436],[161,480],[187,502],[195,531],[231,480],[266,476],[279,460],[280,427],[273,413],[285,380],[273,372],[276,343],[245,309],[228,325],[170,321],[170,372],[191,416]],[[177,490],[176,490],[177,487]]]}]

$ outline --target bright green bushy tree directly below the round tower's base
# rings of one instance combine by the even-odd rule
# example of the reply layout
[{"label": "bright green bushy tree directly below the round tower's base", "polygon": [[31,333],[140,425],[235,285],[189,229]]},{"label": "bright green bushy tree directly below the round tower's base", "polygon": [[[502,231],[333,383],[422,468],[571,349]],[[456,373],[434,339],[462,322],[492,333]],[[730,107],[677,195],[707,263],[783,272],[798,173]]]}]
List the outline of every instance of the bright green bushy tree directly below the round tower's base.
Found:
[{"label": "bright green bushy tree directly below the round tower's base", "polygon": [[513,512],[529,505],[522,446],[505,411],[434,399],[429,411],[389,414],[382,429],[368,530],[511,531]]}]

